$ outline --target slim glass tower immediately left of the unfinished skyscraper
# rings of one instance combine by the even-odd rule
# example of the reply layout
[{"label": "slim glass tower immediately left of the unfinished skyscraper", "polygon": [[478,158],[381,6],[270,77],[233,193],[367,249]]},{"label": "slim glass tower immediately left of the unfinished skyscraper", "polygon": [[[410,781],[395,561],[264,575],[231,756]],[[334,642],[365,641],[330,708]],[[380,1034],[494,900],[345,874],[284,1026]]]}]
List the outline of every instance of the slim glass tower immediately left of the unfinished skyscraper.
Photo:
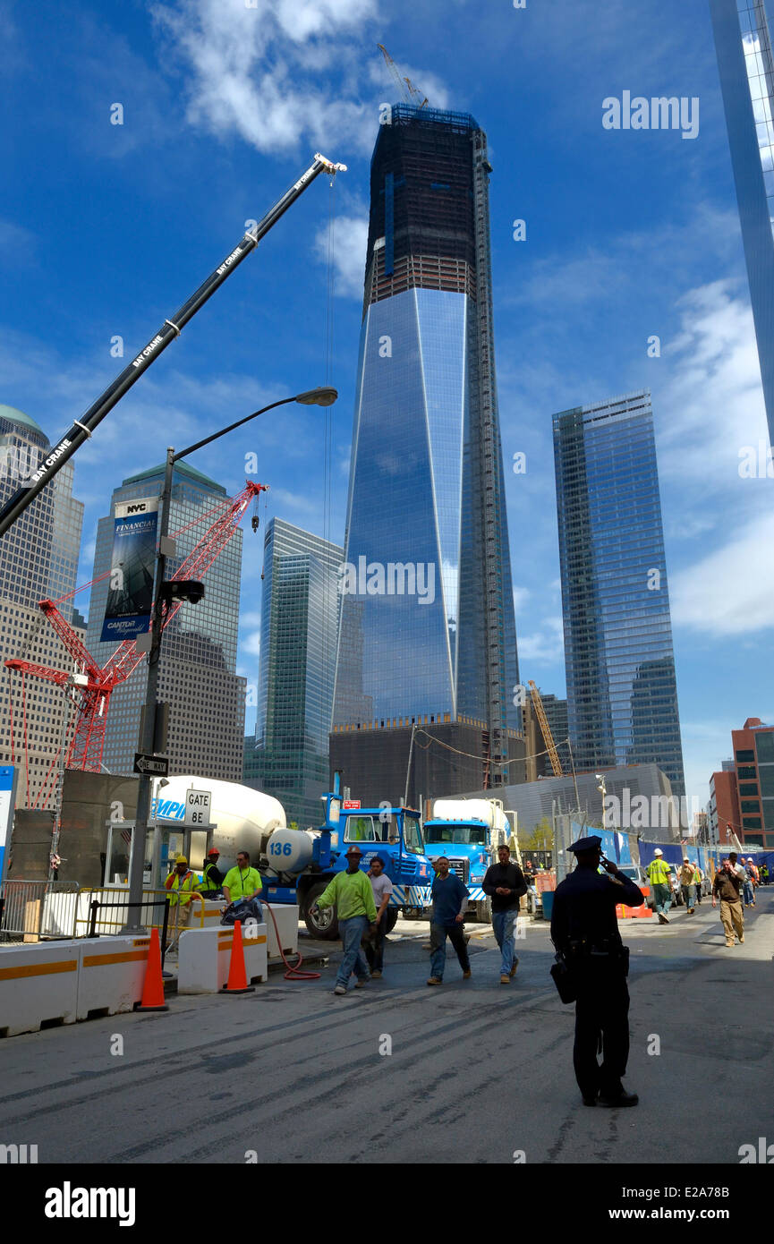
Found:
[{"label": "slim glass tower immediately left of the unfinished skyscraper", "polygon": [[271,519],[264,542],[255,736],[244,780],[279,799],[287,824],[321,824],[338,638],[340,545]]}]

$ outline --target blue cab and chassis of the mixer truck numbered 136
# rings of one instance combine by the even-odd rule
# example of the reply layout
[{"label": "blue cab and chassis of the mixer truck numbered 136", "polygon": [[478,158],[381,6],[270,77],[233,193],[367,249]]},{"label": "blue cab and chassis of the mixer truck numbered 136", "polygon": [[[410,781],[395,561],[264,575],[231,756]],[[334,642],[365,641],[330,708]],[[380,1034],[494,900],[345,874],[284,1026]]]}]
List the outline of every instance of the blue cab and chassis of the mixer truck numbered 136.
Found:
[{"label": "blue cab and chassis of the mixer truck numbered 136", "polygon": [[333,790],[325,795],[325,824],[315,838],[312,858],[295,878],[295,886],[284,887],[269,881],[270,902],[297,903],[300,916],[312,937],[335,939],[338,921],[332,908],[312,912],[311,908],[337,872],[346,872],[350,846],[362,851],[360,867],[367,872],[376,855],[382,857],[385,873],[393,891],[387,911],[387,932],[394,928],[402,908],[429,906],[433,868],[424,852],[421,817],[416,809],[357,807],[343,809],[338,775]]}]

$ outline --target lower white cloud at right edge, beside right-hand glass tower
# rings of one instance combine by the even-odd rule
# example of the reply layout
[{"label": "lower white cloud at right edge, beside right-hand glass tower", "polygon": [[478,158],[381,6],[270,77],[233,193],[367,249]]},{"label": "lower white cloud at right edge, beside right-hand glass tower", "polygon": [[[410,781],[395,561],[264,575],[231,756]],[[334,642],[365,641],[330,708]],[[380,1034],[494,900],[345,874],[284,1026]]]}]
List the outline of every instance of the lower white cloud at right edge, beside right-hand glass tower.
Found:
[{"label": "lower white cloud at right edge, beside right-hand glass tower", "polygon": [[[763,481],[762,481],[763,483]],[[672,576],[672,620],[717,637],[774,627],[774,514]]]}]

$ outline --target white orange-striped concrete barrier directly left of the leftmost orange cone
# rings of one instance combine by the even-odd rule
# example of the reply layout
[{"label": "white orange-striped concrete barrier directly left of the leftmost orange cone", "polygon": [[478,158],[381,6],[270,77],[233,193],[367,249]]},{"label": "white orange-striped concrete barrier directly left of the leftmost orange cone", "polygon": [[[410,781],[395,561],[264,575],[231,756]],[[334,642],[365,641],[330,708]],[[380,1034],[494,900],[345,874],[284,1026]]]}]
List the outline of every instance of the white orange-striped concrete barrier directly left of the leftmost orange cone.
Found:
[{"label": "white orange-striped concrete barrier directly left of the leftmost orange cone", "polygon": [[142,999],[149,944],[148,937],[78,940],[77,1019],[133,1009]]}]

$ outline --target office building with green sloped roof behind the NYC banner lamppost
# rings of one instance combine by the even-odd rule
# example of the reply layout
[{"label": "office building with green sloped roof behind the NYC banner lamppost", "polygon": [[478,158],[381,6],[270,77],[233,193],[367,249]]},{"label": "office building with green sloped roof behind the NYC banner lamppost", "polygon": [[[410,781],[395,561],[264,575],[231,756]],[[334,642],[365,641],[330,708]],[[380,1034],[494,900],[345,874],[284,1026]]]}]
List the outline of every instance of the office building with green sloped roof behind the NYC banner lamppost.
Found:
[{"label": "office building with green sloped roof behind the NYC banner lamppost", "polygon": [[[113,491],[113,513],[119,501],[161,496],[163,481],[163,466],[124,479]],[[167,578],[215,521],[218,503],[224,509],[228,504],[220,484],[188,463],[175,463],[169,531],[178,534],[175,556],[167,561]],[[185,602],[164,628],[158,698],[169,704],[168,755],[173,774],[241,781],[246,683],[235,674],[241,541],[238,530],[202,578],[204,600],[198,605]],[[97,525],[95,580],[110,571],[112,555],[111,515]],[[117,647],[101,639],[108,591],[108,577],[95,582],[88,612],[86,647],[100,666]],[[112,694],[102,753],[103,766],[111,774],[133,770],[146,677],[143,661]]]}]

